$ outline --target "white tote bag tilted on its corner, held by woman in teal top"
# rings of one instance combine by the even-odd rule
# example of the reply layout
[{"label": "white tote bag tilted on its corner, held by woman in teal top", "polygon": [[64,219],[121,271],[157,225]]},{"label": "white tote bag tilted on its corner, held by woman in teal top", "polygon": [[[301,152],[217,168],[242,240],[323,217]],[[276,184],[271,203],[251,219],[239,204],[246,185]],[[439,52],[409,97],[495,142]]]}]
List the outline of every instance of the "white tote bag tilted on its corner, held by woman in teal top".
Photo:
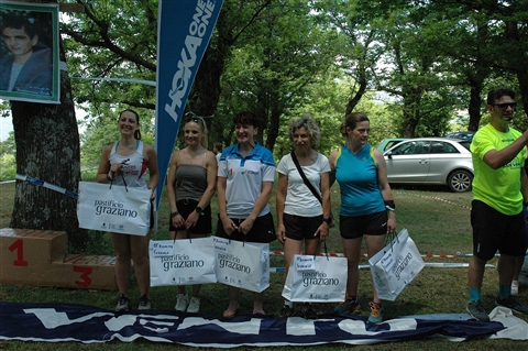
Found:
[{"label": "white tote bag tilted on its corner, held by woman in teal top", "polygon": [[407,229],[369,260],[381,299],[394,301],[424,268],[425,263]]}]

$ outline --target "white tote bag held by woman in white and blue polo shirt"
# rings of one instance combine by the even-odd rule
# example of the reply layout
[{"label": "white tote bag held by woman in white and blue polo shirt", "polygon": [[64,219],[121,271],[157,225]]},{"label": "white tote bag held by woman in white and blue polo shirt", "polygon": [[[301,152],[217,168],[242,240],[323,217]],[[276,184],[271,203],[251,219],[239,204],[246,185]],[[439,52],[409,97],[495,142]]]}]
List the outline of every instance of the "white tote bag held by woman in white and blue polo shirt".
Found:
[{"label": "white tote bag held by woman in white and blue polo shirt", "polygon": [[270,244],[213,237],[217,282],[262,293],[270,286]]}]

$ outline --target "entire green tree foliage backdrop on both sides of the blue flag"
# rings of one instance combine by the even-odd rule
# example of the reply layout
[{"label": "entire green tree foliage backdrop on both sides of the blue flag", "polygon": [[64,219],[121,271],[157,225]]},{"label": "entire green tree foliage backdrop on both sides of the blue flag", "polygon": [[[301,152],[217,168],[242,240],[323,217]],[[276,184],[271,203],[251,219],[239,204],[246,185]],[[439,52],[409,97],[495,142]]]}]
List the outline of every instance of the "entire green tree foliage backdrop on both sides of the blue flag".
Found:
[{"label": "entire green tree foliage backdrop on both sides of the blue flag", "polygon": [[[86,12],[61,24],[70,75],[154,80],[157,1],[79,2]],[[369,112],[373,143],[466,130],[475,123],[468,111],[477,113],[476,125],[482,125],[481,101],[488,84],[508,77],[504,80],[517,86],[520,74],[528,72],[527,13],[519,0],[497,7],[447,0],[224,0],[208,55],[226,66],[202,75],[221,76],[220,96],[208,96],[218,100],[210,144],[233,142],[231,120],[241,110],[262,116],[258,138],[276,154],[289,147],[282,135],[289,119],[304,113],[314,114],[323,132],[329,131],[321,150],[339,144],[336,131],[348,108]],[[324,101],[342,94],[331,91],[336,85],[330,83],[326,91],[318,88],[333,79],[329,72],[338,72],[348,85],[349,94],[333,99],[338,106]],[[89,120],[114,103],[154,109],[155,89],[150,86],[79,79],[73,85],[77,101],[88,103]],[[525,85],[518,85],[519,91]],[[195,81],[194,91],[199,86]],[[199,100],[198,91],[188,103],[194,107]],[[364,107],[367,100],[374,105]],[[522,121],[516,118],[515,123],[525,128]]]}]

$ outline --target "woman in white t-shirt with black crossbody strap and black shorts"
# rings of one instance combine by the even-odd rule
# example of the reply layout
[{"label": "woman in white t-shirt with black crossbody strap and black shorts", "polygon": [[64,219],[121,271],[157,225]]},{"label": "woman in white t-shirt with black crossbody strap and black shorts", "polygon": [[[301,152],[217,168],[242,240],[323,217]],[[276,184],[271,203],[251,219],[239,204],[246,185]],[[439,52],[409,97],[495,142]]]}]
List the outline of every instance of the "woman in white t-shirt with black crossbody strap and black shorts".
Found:
[{"label": "woman in white t-shirt with black crossbody strap and black shorts", "polygon": [[[277,166],[277,239],[284,245],[284,277],[288,274],[294,255],[301,253],[302,242],[306,254],[316,254],[319,253],[321,241],[326,241],[329,234],[330,164],[327,156],[312,149],[319,142],[320,134],[319,127],[311,118],[292,121],[288,135],[295,150],[283,156]],[[305,184],[294,156],[322,204]],[[293,315],[294,304],[285,300],[279,317]],[[317,318],[317,311],[309,303],[304,304],[301,315],[305,318]]]}]

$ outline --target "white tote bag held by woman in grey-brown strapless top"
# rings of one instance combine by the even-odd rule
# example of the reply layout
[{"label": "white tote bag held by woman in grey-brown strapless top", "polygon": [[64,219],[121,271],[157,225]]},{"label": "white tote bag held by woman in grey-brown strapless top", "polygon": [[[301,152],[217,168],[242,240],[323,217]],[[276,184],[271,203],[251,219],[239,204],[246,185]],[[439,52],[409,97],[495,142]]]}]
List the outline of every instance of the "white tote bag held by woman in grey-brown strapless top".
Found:
[{"label": "white tote bag held by woman in grey-brown strapless top", "polygon": [[151,240],[151,286],[217,283],[212,237]]}]

